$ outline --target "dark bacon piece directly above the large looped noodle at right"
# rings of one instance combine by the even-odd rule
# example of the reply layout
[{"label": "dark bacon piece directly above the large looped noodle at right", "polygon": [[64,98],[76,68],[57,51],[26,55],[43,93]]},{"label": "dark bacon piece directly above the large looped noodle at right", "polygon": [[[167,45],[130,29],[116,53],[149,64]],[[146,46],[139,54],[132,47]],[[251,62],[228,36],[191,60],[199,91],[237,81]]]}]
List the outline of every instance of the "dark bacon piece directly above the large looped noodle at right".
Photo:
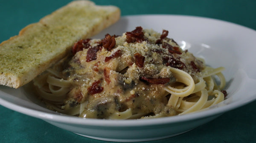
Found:
[{"label": "dark bacon piece directly above the large looped noodle at right", "polygon": [[186,67],[186,65],[180,60],[168,56],[163,57],[163,63],[166,63],[166,66],[174,67],[180,70]]}]

